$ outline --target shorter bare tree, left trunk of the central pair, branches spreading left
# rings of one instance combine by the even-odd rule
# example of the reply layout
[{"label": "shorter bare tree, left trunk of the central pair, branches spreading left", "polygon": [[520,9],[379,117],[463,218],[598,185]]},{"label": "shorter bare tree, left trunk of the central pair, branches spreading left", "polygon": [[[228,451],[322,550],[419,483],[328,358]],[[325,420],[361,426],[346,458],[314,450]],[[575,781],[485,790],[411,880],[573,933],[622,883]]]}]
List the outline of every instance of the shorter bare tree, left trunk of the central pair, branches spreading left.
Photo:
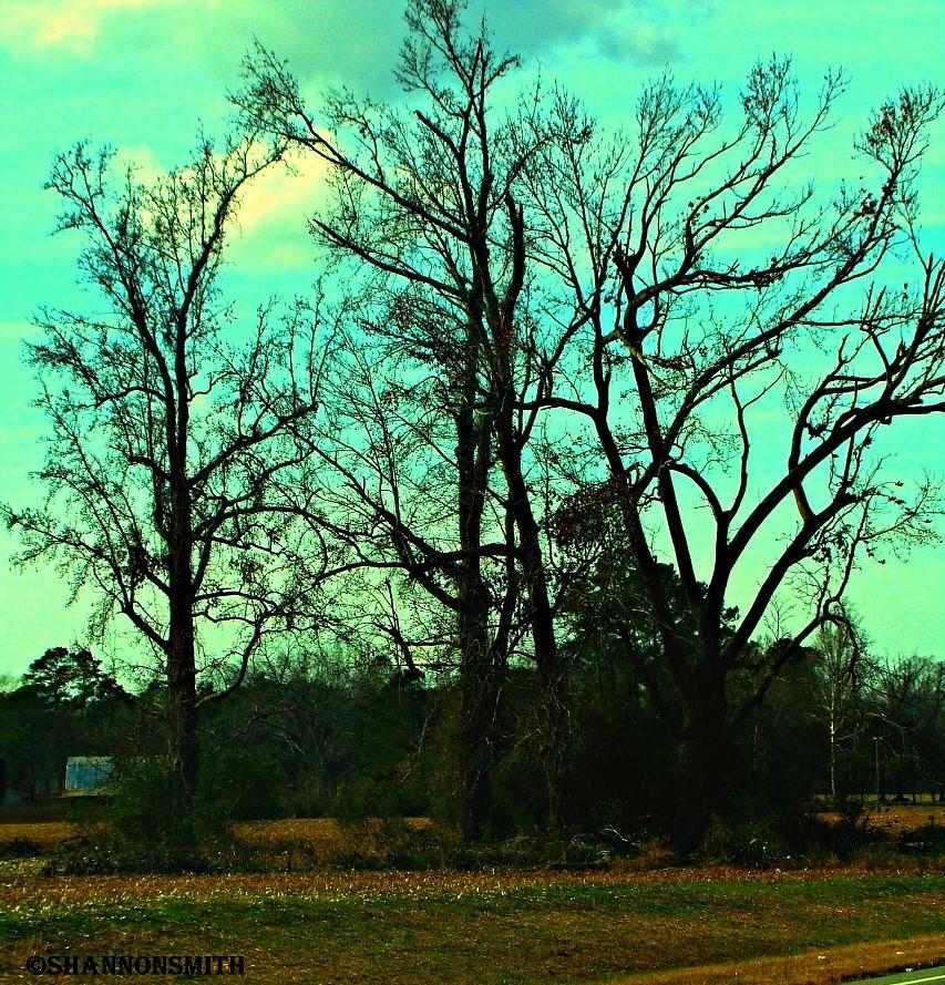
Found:
[{"label": "shorter bare tree, left trunk of the central pair, branches spreading left", "polygon": [[357,596],[374,599],[374,629],[407,667],[459,674],[459,815],[472,835],[490,817],[500,694],[521,636],[510,546],[501,522],[496,529],[491,439],[485,429],[458,461],[465,411],[462,398],[451,406],[443,393],[441,368],[419,367],[372,330],[348,342],[335,361],[321,442],[340,480],[332,529],[360,565]]}]

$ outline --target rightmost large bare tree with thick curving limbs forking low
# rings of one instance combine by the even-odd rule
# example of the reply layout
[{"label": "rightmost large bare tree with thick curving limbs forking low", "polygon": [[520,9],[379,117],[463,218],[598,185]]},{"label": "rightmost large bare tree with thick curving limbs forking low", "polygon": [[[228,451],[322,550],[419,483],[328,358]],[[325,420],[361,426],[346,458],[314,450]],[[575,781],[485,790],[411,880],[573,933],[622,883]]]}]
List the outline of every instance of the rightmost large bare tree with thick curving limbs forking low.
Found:
[{"label": "rightmost large bare tree with thick curving limbs forking low", "polygon": [[[726,129],[717,90],[665,76],[617,141],[559,98],[544,125],[575,138],[525,168],[544,261],[575,308],[573,355],[546,373],[544,406],[595,435],[595,494],[622,509],[661,627],[686,710],[685,849],[720,803],[732,730],[835,608],[856,560],[931,536],[934,489],[907,500],[875,450],[893,420],[945,409],[945,267],[921,249],[914,192],[942,100],[903,90],[881,107],[856,146],[864,184],[818,204],[789,178],[840,89],[828,76],[804,119],[788,63],[759,64]],[[917,284],[902,284],[905,257]],[[660,551],[698,626],[695,656]],[[723,633],[732,576],[757,551],[766,573]],[[752,635],[785,594],[794,624],[759,659]],[[754,685],[730,707],[739,669]]]}]

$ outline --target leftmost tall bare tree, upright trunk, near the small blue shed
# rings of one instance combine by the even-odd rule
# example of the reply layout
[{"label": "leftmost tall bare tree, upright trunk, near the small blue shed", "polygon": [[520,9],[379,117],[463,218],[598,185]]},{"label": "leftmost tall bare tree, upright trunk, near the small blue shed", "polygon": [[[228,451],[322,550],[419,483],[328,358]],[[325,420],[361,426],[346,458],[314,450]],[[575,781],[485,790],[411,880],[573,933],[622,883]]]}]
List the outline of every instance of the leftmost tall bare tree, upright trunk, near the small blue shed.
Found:
[{"label": "leftmost tall bare tree, upright trunk, near the small blue shed", "polygon": [[[91,314],[44,309],[30,343],[50,425],[43,509],[4,506],[22,564],[53,558],[92,629],[123,616],[164,684],[182,801],[197,779],[198,710],[242,683],[267,636],[309,619],[327,560],[311,524],[308,429],[317,411],[315,318],[273,305],[236,324],[219,286],[247,184],[279,161],[256,134],[145,185],[79,144],[48,187],[59,229],[84,240]],[[306,439],[305,441],[302,439]],[[306,496],[309,495],[309,500]],[[138,660],[141,664],[142,660]]]}]

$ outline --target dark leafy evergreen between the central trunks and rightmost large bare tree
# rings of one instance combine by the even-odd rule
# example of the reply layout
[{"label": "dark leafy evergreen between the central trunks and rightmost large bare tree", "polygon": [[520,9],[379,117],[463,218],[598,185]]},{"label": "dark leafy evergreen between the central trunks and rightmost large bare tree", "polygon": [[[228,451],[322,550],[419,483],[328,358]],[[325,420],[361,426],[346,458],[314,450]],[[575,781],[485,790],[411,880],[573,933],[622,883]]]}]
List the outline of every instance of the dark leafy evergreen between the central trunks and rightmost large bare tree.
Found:
[{"label": "dark leafy evergreen between the central trunks and rightmost large bare tree", "polygon": [[[585,499],[565,500],[554,519],[559,551],[573,561],[558,618],[567,668],[568,815],[623,831],[641,819],[669,820],[681,708],[619,517],[585,510]],[[681,617],[678,602],[677,595]]]}]

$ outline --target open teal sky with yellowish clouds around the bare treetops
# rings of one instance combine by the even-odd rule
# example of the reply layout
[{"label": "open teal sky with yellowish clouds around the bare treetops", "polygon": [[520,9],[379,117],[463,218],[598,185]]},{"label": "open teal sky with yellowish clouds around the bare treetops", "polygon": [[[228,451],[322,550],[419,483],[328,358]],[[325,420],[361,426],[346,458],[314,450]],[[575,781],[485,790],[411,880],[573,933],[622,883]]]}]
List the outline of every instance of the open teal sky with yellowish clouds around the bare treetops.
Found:
[{"label": "open teal sky with yellowish clouds around the bare treetops", "polygon": [[[945,83],[941,0],[493,0],[484,9],[500,47],[541,66],[608,123],[633,110],[639,85],[671,65],[680,81],[718,81],[732,100],[757,58],[792,54],[802,91],[842,66],[850,86],[834,129],[808,158],[810,174],[856,178],[851,142],[869,110],[902,83]],[[51,237],[58,203],[41,189],[53,154],[82,137],[107,143],[147,170],[179,163],[203,120],[222,131],[227,89],[254,37],[288,58],[312,94],[348,84],[397,99],[390,70],[402,35],[399,0],[0,0],[0,501],[37,502],[43,421],[22,340],[40,305],[80,306],[78,243]],[[932,133],[922,177],[926,242],[945,249],[945,125]],[[304,234],[320,175],[273,174],[242,214],[229,281],[242,298],[304,291],[314,276]],[[84,304],[89,304],[91,298]],[[908,479],[945,473],[942,422],[900,429],[888,451]],[[81,606],[65,607],[51,571],[19,573],[0,532],[0,674],[21,673],[50,646],[81,637]],[[881,651],[945,656],[945,553],[856,573],[851,598]],[[737,601],[737,599],[736,599]]]}]

